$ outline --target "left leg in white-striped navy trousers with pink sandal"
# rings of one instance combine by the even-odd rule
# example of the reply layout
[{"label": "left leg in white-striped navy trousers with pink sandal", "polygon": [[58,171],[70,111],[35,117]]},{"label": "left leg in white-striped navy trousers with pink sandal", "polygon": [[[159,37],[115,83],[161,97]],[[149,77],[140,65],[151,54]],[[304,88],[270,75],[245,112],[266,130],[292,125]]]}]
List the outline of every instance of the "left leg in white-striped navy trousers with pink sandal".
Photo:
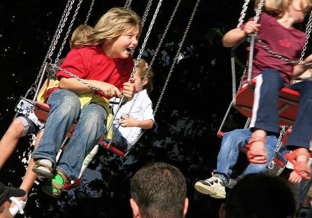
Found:
[{"label": "left leg in white-striped navy trousers with pink sandal", "polygon": [[264,70],[256,77],[253,114],[250,128],[254,132],[248,144],[251,145],[247,157],[251,163],[265,164],[267,152],[265,137],[267,132],[278,133],[278,95],[284,81],[274,69]]}]

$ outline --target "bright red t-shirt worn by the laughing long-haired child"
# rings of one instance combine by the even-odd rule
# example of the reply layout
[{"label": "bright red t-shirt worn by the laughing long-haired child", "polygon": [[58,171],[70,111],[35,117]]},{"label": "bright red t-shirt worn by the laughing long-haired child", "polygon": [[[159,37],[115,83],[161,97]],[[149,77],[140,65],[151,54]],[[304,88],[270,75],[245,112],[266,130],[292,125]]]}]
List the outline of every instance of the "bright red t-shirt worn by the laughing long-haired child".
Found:
[{"label": "bright red t-shirt worn by the laughing long-haired child", "polygon": [[[70,50],[60,67],[81,79],[109,83],[121,91],[123,89],[122,84],[129,81],[134,61],[132,56],[126,59],[110,58],[98,45]],[[71,78],[72,76],[59,70],[57,73],[58,80],[61,77]]]}]

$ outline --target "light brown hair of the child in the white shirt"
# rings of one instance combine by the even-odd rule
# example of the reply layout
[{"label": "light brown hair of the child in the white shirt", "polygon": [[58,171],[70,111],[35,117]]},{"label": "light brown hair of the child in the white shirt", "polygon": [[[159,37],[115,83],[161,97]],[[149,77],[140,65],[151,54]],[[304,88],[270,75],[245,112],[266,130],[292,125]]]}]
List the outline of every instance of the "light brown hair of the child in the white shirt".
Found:
[{"label": "light brown hair of the child in the white shirt", "polygon": [[[134,62],[136,63],[137,59],[134,59]],[[150,93],[154,89],[153,81],[152,81],[154,77],[154,72],[153,72],[152,67],[150,67],[148,74],[146,74],[146,71],[148,70],[149,66],[150,65],[147,63],[146,60],[144,60],[143,58],[140,58],[137,64],[137,69],[136,69],[136,73],[142,81],[144,77],[148,78],[147,84],[143,87],[146,89],[147,93]]]}]

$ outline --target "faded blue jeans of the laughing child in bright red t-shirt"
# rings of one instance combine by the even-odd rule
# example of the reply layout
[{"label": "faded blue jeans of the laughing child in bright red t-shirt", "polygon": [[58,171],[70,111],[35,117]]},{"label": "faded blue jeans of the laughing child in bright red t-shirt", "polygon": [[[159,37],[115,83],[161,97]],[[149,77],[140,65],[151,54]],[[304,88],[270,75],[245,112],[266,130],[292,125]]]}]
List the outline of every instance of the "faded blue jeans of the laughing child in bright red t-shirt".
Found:
[{"label": "faded blue jeans of the laughing child in bright red t-shirt", "polygon": [[[97,104],[90,104],[80,109],[78,95],[66,89],[56,89],[51,92],[47,104],[50,105],[49,116],[32,158],[51,160],[53,165],[57,166],[56,169],[65,174],[69,180],[77,179],[84,158],[107,131],[105,126],[107,112]],[[65,134],[78,119],[75,130],[57,164],[56,156]]]}]

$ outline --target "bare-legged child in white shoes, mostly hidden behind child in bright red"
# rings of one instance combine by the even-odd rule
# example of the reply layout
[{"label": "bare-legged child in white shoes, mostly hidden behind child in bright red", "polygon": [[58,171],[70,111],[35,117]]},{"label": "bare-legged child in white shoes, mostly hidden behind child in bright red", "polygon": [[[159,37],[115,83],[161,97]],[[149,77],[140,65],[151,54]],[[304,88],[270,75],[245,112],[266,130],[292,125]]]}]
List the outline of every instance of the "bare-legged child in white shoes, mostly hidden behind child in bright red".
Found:
[{"label": "bare-legged child in white shoes, mostly hidden behind child in bright red", "polygon": [[[69,41],[70,48],[75,48],[79,42],[81,42],[88,33],[91,33],[93,28],[86,24],[79,25],[75,31],[73,32],[72,38]],[[56,63],[56,66],[60,66],[62,64],[64,59],[59,59],[59,61]],[[47,66],[47,70],[50,71],[50,74],[53,70],[56,70],[51,65]],[[57,70],[56,70],[57,71]],[[53,86],[54,82],[56,81],[56,76],[46,79],[43,85],[41,86],[39,90],[39,95],[43,93],[43,91],[50,86]],[[29,113],[33,113],[33,111],[28,111]],[[15,148],[18,145],[19,139],[22,136],[26,136],[29,134],[36,134],[36,143],[35,148],[36,150],[38,143],[41,139],[41,136],[44,131],[44,124],[39,123],[40,121],[30,119],[27,115],[20,115],[16,119],[13,120],[12,124],[8,128],[8,130],[5,132],[3,137],[0,141],[0,169],[6,162],[6,160],[9,158],[9,156],[13,153]],[[36,125],[37,124],[37,125]],[[41,124],[41,125],[39,125]],[[20,185],[20,189],[24,190],[26,192],[25,196],[20,197],[11,197],[11,206],[10,206],[10,212],[12,217],[15,217],[18,213],[23,214],[23,209],[25,208],[26,202],[27,202],[27,196],[28,193],[33,186],[35,180],[38,177],[38,174],[34,173],[32,171],[32,168],[34,166],[34,160],[30,158],[28,167],[26,170],[26,174],[24,176],[24,179]]]}]

